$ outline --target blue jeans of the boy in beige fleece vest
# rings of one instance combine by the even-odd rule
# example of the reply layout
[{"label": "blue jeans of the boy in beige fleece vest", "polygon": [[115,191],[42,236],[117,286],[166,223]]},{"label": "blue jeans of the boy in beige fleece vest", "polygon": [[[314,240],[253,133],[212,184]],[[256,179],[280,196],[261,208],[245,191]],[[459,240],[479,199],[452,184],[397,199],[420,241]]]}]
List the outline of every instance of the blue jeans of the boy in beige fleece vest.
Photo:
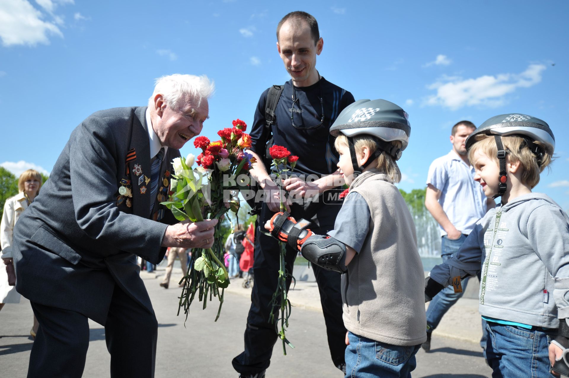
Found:
[{"label": "blue jeans of the boy in beige fleece vest", "polygon": [[411,378],[419,345],[402,347],[348,332],[345,378]]}]

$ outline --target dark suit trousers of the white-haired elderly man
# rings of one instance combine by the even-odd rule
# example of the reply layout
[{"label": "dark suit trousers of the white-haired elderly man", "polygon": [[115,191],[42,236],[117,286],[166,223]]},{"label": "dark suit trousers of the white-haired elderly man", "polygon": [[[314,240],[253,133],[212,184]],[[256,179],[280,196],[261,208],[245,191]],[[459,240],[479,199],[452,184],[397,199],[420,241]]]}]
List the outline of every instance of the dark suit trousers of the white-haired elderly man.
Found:
[{"label": "dark suit trousers of the white-haired elderly man", "polygon": [[[32,302],[39,322],[28,378],[80,378],[89,347],[85,315]],[[110,376],[154,377],[158,322],[154,314],[115,285],[105,323]]]}]

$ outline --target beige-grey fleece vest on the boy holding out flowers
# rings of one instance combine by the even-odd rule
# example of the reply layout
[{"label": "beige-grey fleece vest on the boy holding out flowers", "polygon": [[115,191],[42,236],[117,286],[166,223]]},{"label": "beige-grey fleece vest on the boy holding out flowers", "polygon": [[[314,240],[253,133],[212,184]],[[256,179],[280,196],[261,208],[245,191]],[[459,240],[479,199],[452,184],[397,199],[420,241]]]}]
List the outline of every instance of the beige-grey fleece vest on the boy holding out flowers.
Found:
[{"label": "beige-grey fleece vest on the boy holding out flowers", "polygon": [[350,190],[368,203],[369,233],[342,276],[344,325],[353,334],[399,346],[427,339],[423,264],[413,218],[393,181],[377,169]]}]

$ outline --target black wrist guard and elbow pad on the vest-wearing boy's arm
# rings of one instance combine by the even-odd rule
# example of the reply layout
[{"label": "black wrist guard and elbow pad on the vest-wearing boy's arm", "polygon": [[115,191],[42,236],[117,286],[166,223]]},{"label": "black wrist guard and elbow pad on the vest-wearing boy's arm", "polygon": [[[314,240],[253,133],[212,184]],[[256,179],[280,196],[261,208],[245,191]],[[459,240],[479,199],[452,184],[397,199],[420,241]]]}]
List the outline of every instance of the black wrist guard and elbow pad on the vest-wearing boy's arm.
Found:
[{"label": "black wrist guard and elbow pad on the vest-wearing boy's arm", "polygon": [[331,236],[315,235],[308,230],[310,222],[296,222],[288,213],[273,215],[269,230],[274,238],[298,248],[302,256],[313,264],[338,273],[345,273],[346,246]]}]

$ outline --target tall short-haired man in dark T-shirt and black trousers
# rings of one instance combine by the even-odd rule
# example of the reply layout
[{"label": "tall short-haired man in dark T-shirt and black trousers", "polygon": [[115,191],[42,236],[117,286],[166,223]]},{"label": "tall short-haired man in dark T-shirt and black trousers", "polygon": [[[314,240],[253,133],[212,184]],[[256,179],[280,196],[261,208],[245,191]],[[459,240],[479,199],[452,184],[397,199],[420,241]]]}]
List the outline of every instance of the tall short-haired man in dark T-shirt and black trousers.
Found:
[{"label": "tall short-haired man in dark T-shirt and black trousers", "polygon": [[[292,203],[290,207],[287,204],[292,216],[310,219],[318,232],[326,234],[332,230],[340,210],[339,205],[326,205],[320,194],[343,183],[336,171],[338,155],[329,128],[340,111],[354,102],[354,98],[351,93],[325,80],[316,70],[316,56],[322,52],[323,44],[318,22],[306,12],[289,13],[277,26],[277,49],[292,80],[284,84],[274,111],[276,122],[271,124],[270,130],[265,127],[269,89],[259,99],[251,128],[250,151],[257,163],[252,165],[250,172],[266,193],[258,218],[261,227],[279,211],[279,191],[274,190],[277,187],[267,173],[269,167],[262,163],[271,132],[275,145],[286,147],[292,155],[300,158],[294,169],[295,177],[283,183],[292,196],[304,198],[303,203]],[[309,175],[319,178],[312,182],[302,178]],[[269,322],[269,317],[271,298],[277,288],[279,245],[259,230],[256,234],[254,285],[245,330],[245,351],[233,359],[233,367],[242,377],[261,378],[269,367],[277,341],[275,325]],[[289,273],[292,273],[297,252],[287,247],[286,269]],[[312,267],[320,290],[332,362],[336,367],[345,369],[346,329],[342,321],[340,277],[316,265]],[[287,280],[287,289],[290,281]]]}]

